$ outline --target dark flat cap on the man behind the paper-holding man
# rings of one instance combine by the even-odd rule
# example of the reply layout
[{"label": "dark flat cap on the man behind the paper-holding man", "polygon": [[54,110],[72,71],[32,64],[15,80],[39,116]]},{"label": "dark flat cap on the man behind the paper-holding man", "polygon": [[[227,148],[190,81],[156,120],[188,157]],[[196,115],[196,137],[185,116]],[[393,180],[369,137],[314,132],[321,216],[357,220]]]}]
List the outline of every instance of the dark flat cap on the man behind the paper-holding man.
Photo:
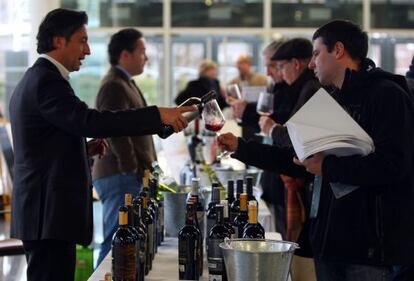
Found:
[{"label": "dark flat cap on the man behind the paper-holding man", "polygon": [[282,43],[272,56],[272,60],[310,59],[312,43],[305,38],[293,38]]}]

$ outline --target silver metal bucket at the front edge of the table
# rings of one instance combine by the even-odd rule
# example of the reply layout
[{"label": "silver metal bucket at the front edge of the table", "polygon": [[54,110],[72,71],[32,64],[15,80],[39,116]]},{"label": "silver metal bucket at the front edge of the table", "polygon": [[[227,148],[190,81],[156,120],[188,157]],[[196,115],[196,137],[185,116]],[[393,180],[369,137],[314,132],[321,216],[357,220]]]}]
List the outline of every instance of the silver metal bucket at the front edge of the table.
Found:
[{"label": "silver metal bucket at the front edge of the table", "polygon": [[296,243],[226,239],[220,243],[229,281],[287,281]]}]

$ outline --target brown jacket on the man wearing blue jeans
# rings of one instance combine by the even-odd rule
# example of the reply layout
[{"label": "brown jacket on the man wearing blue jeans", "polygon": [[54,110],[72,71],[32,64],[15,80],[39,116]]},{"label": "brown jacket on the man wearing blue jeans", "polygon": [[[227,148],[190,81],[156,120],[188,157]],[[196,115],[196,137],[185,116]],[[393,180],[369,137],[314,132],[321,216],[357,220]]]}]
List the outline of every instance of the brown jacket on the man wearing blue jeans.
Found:
[{"label": "brown jacket on the man wearing blue jeans", "polygon": [[[144,96],[127,75],[111,67],[96,97],[96,109],[119,110],[146,106]],[[144,170],[151,168],[151,163],[157,159],[151,135],[109,138],[108,143],[107,153],[95,159],[93,180],[119,173],[136,173],[142,177]]]}]

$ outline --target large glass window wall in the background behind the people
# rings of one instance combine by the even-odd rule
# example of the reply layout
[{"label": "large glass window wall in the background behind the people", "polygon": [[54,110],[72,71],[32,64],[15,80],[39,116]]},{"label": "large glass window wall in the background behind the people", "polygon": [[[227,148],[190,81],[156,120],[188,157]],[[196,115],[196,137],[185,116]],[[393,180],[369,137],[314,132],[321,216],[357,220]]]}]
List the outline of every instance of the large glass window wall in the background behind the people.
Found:
[{"label": "large glass window wall in the background behind the people", "polygon": [[[29,13],[30,1],[36,5],[48,2],[0,1],[0,110],[6,114],[17,81],[33,63],[35,46],[29,39],[37,26],[32,28],[31,22],[44,16]],[[235,62],[241,53],[252,55],[255,70],[264,72],[261,51],[273,35],[310,38],[316,27],[334,18],[370,24],[364,27],[371,37],[369,56],[385,70],[404,74],[414,54],[414,33],[409,32],[414,29],[414,1],[370,0],[368,21],[362,18],[362,2],[61,0],[62,7],[85,10],[89,15],[92,55],[79,72],[71,74],[71,83],[80,98],[93,106],[109,67],[109,37],[123,26],[132,26],[143,31],[149,56],[138,85],[150,104],[171,105],[186,83],[197,78],[204,58],[218,63],[218,78],[225,85],[237,76]],[[163,15],[168,16],[163,20]]]}]

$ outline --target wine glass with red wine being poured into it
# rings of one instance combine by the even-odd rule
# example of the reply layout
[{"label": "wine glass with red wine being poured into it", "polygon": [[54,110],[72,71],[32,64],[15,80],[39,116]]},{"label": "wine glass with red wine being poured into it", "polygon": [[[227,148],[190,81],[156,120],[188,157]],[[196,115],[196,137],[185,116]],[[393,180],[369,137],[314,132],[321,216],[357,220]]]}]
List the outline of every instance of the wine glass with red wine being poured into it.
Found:
[{"label": "wine glass with red wine being poured into it", "polygon": [[[218,131],[220,131],[223,128],[226,120],[224,118],[223,112],[221,112],[220,110],[217,100],[213,99],[204,105],[201,117],[204,120],[204,126],[206,130],[215,132],[216,135],[219,136]],[[217,160],[220,160],[223,157],[227,157],[229,155],[230,152],[223,151],[222,153],[217,155],[216,158]]]}]

